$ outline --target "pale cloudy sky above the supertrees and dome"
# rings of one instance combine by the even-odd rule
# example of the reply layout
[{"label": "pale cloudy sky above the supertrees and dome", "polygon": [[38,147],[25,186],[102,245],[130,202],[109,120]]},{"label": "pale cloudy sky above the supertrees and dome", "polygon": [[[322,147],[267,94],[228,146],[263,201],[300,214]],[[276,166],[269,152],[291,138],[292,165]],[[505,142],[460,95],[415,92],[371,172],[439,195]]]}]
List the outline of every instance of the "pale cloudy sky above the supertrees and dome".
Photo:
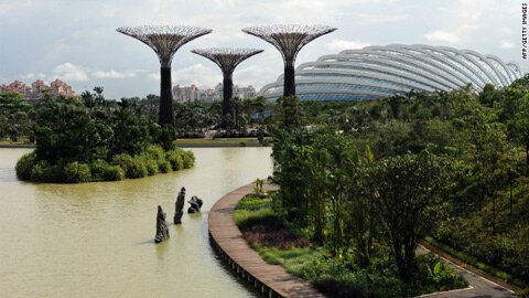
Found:
[{"label": "pale cloudy sky above the supertrees and dome", "polygon": [[234,84],[258,91],[283,71],[281,54],[242,28],[325,24],[338,30],[309,43],[296,65],[367,45],[430,44],[521,58],[523,0],[0,0],[0,84],[60,78],[77,93],[102,86],[108,98],[159,94],[159,61],[141,42],[116,32],[143,24],[213,30],[173,58],[173,85],[213,88],[220,70],[191,53],[204,47],[264,50],[242,62]]}]

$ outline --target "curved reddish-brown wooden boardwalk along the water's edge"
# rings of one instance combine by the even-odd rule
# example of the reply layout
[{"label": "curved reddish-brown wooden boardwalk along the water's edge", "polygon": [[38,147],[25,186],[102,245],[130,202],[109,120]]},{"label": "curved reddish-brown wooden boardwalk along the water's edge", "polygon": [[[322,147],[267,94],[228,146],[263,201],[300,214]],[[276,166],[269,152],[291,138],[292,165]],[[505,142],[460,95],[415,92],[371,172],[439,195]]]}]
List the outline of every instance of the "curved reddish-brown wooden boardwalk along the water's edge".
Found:
[{"label": "curved reddish-brown wooden boardwalk along the water's edge", "polygon": [[[266,185],[267,190],[271,188]],[[245,241],[233,213],[237,203],[252,192],[253,183],[241,187],[220,198],[209,211],[209,235],[220,256],[241,278],[269,297],[325,297],[281,266],[267,264]]]}]

